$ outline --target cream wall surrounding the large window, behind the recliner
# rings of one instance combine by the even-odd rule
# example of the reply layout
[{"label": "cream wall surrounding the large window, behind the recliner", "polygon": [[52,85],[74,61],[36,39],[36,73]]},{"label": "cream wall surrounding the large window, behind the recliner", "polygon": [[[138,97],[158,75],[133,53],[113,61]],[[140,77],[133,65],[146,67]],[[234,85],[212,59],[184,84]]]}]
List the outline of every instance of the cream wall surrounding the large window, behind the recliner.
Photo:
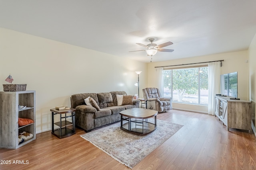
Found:
[{"label": "cream wall surrounding the large window, behind the recliner", "polygon": [[[175,51],[174,51],[175,52]],[[172,54],[170,54],[171,58]],[[169,66],[176,64],[189,64],[207,61],[224,60],[222,62],[221,74],[230,72],[238,72],[238,98],[243,100],[249,100],[249,63],[248,51],[238,51],[234,53],[221,53],[216,55],[207,55],[201,57],[192,57],[180,60],[170,60],[158,63],[148,64],[148,87],[156,86],[156,68],[155,66]],[[197,106],[192,104],[178,104],[173,103],[173,107],[176,109],[184,109],[190,111],[199,111],[202,113],[208,113],[207,106]]]}]

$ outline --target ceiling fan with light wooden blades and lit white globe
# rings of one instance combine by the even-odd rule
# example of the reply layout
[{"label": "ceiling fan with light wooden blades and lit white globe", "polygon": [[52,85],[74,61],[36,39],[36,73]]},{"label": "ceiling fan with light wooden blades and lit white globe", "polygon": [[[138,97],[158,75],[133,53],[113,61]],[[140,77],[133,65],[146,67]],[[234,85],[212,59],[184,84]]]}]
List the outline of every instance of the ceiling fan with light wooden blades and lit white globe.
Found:
[{"label": "ceiling fan with light wooden blades and lit white globe", "polygon": [[[150,44],[148,44],[148,45],[144,45],[144,44],[141,44],[141,43],[136,43],[136,44],[147,48],[145,50],[137,50],[137,51],[146,51],[148,56],[151,56],[151,62],[152,62],[152,56],[155,55],[157,53],[157,51],[162,51],[162,52],[172,52],[172,51],[174,51],[172,49],[162,49],[162,47],[172,45],[173,43],[170,42],[170,41],[168,41],[166,43],[163,43],[163,44],[160,44],[160,45],[156,45],[156,44],[153,43],[154,40],[155,40],[154,38],[150,38],[148,40],[150,41]],[[129,51],[129,52],[134,52],[134,51]]]}]

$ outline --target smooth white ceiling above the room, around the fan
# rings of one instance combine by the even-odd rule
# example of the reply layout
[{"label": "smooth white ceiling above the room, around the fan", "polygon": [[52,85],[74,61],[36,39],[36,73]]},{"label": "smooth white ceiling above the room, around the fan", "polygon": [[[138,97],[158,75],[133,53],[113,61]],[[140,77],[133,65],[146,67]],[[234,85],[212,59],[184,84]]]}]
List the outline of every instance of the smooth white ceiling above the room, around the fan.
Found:
[{"label": "smooth white ceiling above the room, around the fan", "polygon": [[0,0],[0,27],[149,63],[247,50],[256,0]]}]

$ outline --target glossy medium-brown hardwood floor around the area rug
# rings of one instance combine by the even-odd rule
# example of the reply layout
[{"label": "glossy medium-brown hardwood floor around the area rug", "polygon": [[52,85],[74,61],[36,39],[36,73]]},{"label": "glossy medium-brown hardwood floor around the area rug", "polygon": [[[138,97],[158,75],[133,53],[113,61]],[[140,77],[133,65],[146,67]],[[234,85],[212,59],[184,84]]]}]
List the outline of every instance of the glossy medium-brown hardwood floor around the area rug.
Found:
[{"label": "glossy medium-brown hardwood floor around the area rug", "polygon": [[[217,117],[189,111],[171,110],[157,119],[184,125],[133,170],[256,170],[256,138],[246,131],[230,129]],[[120,122],[118,122],[120,123]],[[85,132],[58,139],[50,131],[36,140],[13,149],[0,149],[0,170],[30,169],[130,169],[82,139]],[[14,164],[13,161],[24,161]],[[27,162],[26,162],[27,161]],[[26,164],[27,163],[27,164]]]}]

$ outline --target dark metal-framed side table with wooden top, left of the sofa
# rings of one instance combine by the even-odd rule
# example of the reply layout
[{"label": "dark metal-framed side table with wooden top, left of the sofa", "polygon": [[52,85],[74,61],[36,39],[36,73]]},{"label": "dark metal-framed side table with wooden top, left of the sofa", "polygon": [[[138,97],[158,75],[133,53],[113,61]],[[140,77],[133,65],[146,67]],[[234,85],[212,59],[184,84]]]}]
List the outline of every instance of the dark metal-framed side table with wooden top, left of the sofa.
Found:
[{"label": "dark metal-framed side table with wooden top, left of the sofa", "polygon": [[[76,109],[70,108],[70,109],[50,109],[52,111],[52,135],[58,137],[58,138],[65,138],[69,137],[71,135],[74,135],[76,133],[76,127],[75,127],[75,111]],[[67,113],[71,113],[71,115],[67,115]],[[54,115],[59,114],[60,115],[60,121],[54,123]],[[62,114],[65,114],[65,116],[62,117]],[[72,122],[67,121],[68,117],[72,117]],[[62,120],[64,119],[64,120]],[[57,125],[59,128],[54,129],[54,125]],[[69,128],[71,127],[71,128]]]}]

